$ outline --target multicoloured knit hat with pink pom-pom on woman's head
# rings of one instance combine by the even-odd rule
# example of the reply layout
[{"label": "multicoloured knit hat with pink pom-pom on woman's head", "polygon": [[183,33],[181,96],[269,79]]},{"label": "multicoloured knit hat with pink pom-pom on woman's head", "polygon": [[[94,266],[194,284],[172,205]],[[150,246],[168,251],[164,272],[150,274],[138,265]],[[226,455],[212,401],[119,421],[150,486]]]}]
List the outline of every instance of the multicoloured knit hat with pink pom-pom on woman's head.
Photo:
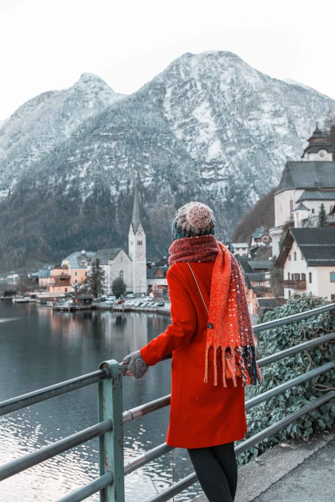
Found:
[{"label": "multicoloured knit hat with pink pom-pom on woman's head", "polygon": [[174,239],[214,235],[215,223],[210,207],[201,202],[189,202],[176,212],[172,221],[172,235]]}]

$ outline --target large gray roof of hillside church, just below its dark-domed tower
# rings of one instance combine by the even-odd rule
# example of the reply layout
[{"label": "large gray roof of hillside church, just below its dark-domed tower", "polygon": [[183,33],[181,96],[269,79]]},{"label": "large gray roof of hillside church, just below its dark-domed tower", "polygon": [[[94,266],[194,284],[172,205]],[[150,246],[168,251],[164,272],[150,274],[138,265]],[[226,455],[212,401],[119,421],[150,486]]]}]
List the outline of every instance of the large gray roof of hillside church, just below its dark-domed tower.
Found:
[{"label": "large gray roof of hillside church, just below its dark-domed tower", "polygon": [[297,188],[335,188],[335,162],[286,162],[276,193]]}]

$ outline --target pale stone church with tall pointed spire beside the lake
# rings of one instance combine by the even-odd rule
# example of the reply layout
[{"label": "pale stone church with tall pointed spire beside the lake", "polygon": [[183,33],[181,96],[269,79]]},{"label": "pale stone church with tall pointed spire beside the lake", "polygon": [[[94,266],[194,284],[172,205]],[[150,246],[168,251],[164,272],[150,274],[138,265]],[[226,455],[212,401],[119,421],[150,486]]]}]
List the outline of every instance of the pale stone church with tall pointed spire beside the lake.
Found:
[{"label": "pale stone church with tall pointed spire beside the lake", "polygon": [[[99,259],[100,266],[105,272],[106,294],[113,294],[111,285],[119,277],[125,282],[127,291],[133,291],[136,294],[147,293],[146,235],[140,221],[137,175],[134,182],[134,203],[128,232],[128,249],[129,254],[123,247],[98,249],[94,255],[94,260]],[[89,269],[90,267],[87,268],[87,272]]]}]

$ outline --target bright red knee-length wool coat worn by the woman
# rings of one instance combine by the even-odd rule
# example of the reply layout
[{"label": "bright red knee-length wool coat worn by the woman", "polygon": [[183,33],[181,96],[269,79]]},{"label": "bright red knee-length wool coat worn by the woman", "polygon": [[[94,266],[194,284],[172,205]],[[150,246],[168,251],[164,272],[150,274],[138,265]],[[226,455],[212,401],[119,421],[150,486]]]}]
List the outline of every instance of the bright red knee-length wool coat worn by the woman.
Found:
[{"label": "bright red knee-length wool coat worn by the woman", "polygon": [[[192,262],[202,296],[209,308],[214,262]],[[166,442],[181,448],[202,448],[243,439],[247,432],[242,378],[224,388],[214,386],[213,351],[208,357],[208,383],[203,383],[208,315],[186,263],[175,263],[166,274],[172,323],[142,347],[147,364],[172,352],[171,407]],[[217,357],[220,374],[221,358]]]}]

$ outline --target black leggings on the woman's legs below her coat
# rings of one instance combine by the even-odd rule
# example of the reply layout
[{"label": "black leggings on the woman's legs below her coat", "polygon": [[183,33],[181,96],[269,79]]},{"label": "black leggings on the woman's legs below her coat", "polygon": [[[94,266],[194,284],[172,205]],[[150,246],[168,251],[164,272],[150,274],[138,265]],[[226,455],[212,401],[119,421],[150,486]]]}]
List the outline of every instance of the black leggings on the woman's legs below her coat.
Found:
[{"label": "black leggings on the woman's legs below her coat", "polygon": [[237,487],[234,442],[187,451],[208,502],[233,502]]}]

